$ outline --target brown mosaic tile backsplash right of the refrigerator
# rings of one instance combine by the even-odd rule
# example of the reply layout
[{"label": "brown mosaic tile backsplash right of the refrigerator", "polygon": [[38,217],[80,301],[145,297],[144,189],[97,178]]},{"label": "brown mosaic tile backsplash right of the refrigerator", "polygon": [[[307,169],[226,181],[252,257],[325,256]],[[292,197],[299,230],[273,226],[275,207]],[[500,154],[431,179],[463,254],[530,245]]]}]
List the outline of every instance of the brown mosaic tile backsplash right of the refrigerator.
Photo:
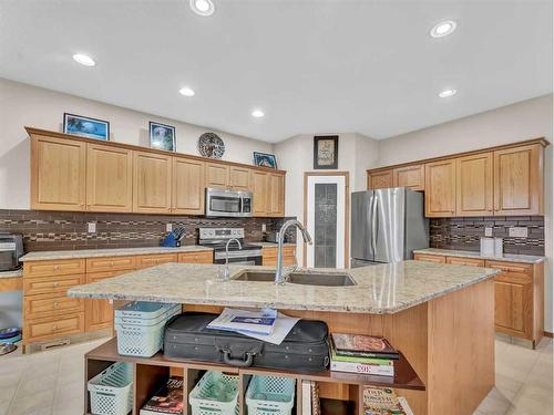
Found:
[{"label": "brown mosaic tile backsplash right of the refrigerator", "polygon": [[[504,252],[544,256],[542,216],[437,218],[429,225],[432,248],[479,251],[480,238],[484,237],[485,227],[491,227],[494,237],[504,239]],[[527,238],[510,238],[511,227],[526,227]]]}]

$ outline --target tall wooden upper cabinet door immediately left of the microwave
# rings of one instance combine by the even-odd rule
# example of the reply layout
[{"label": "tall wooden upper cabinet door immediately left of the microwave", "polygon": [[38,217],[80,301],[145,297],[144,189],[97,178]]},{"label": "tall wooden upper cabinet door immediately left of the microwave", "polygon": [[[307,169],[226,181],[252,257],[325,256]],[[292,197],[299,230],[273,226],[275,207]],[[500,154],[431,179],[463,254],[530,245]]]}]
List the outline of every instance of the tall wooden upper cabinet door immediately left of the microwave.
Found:
[{"label": "tall wooden upper cabinet door immediately left of the microwave", "polygon": [[204,214],[205,168],[204,162],[173,157],[172,210],[174,214]]}]

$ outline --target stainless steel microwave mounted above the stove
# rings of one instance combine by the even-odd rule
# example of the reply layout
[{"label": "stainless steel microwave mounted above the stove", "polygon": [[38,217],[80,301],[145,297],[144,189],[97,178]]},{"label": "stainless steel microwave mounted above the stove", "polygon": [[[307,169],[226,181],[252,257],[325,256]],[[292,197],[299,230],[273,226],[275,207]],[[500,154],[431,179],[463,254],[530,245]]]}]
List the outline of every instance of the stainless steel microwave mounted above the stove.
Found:
[{"label": "stainless steel microwave mounted above the stove", "polygon": [[252,216],[252,191],[206,188],[207,217],[246,218]]}]

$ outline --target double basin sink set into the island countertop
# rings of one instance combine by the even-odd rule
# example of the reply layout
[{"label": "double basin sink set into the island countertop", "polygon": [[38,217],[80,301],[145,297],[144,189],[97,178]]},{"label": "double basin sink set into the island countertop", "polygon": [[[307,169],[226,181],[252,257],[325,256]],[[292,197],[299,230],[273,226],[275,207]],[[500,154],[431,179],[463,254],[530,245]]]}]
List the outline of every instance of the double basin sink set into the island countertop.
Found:
[{"label": "double basin sink set into the island countertop", "polygon": [[[245,270],[233,278],[235,281],[274,282],[275,271]],[[349,287],[356,281],[346,272],[301,272],[293,271],[285,276],[285,282],[301,286]]]}]

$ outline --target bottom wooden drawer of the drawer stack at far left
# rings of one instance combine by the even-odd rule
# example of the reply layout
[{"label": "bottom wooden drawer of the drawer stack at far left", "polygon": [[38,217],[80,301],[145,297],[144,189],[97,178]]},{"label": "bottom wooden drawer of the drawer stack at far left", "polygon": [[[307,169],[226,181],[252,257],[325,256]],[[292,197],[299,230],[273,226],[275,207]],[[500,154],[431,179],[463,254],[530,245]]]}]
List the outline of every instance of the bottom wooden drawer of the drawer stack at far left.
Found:
[{"label": "bottom wooden drawer of the drawer stack at far left", "polygon": [[84,313],[58,315],[44,319],[25,320],[23,326],[23,341],[25,343],[55,339],[63,335],[83,332]]}]

